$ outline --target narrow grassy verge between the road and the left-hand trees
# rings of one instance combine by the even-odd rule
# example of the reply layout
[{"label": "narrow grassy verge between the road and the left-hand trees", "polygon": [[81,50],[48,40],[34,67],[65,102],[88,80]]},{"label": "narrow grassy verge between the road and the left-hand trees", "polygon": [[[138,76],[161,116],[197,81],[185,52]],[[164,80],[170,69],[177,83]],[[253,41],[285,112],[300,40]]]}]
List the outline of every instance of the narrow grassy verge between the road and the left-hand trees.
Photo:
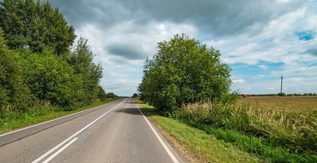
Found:
[{"label": "narrow grassy verge between the road and the left-hand trees", "polygon": [[62,116],[66,116],[66,115],[77,113],[77,112],[80,112],[83,110],[94,108],[94,107],[115,101],[117,99],[119,99],[119,98],[106,99],[105,101],[97,101],[97,102],[94,102],[90,105],[86,105],[86,106],[80,107],[80,108],[78,108],[76,110],[72,110],[72,111],[51,112],[51,113],[48,113],[46,115],[39,115],[39,116],[34,116],[34,117],[26,116],[26,117],[23,117],[23,118],[20,118],[17,120],[3,122],[3,123],[0,123],[0,134],[4,133],[4,132],[8,132],[10,130],[17,129],[17,128],[22,128],[22,127],[30,126],[30,125],[33,125],[36,123],[50,121],[50,120],[53,120],[53,119],[56,119],[56,118],[59,118]]}]

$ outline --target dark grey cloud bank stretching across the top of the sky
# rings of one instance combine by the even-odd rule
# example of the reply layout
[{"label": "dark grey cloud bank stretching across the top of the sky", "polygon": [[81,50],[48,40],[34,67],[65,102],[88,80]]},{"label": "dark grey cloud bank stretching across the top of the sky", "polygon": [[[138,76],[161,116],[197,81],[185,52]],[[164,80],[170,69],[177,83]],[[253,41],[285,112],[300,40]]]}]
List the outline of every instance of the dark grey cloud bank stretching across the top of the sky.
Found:
[{"label": "dark grey cloud bank stretching across the top of the sky", "polygon": [[[205,35],[228,36],[248,32],[252,26],[262,26],[282,14],[303,7],[308,1],[53,0],[52,3],[75,26],[93,23],[107,28],[128,20],[133,20],[140,26],[151,21],[171,21],[194,24]],[[253,32],[256,34],[261,30],[260,28]]]}]

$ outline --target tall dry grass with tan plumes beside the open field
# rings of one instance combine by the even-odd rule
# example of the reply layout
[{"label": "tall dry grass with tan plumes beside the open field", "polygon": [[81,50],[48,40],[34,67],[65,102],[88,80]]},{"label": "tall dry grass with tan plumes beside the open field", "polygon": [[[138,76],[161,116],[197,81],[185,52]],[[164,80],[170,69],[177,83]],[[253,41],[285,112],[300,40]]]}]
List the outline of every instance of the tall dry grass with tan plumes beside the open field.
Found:
[{"label": "tall dry grass with tan plumes beside the open field", "polygon": [[313,114],[198,102],[183,105],[176,118],[262,137],[268,144],[294,152],[317,154],[317,119]]}]

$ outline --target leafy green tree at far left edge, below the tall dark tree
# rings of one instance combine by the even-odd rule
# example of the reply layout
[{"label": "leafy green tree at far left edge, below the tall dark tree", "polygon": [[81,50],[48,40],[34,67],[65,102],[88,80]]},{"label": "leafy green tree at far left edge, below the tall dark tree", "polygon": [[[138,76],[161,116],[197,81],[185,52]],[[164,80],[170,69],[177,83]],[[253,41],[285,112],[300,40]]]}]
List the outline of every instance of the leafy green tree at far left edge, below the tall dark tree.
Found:
[{"label": "leafy green tree at far left edge, below the tall dark tree", "polygon": [[22,79],[21,59],[5,45],[0,29],[0,109],[13,105],[19,111],[26,111],[29,107],[32,96]]}]

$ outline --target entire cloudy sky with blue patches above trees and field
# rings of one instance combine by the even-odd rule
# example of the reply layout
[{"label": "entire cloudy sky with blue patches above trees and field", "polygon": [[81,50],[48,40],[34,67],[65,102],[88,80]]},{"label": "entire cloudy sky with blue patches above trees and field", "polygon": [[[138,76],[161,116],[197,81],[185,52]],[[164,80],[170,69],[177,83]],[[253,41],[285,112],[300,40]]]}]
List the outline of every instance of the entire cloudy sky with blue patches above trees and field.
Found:
[{"label": "entire cloudy sky with blue patches above trees and field", "polygon": [[106,92],[131,96],[156,43],[185,33],[219,49],[241,93],[317,92],[316,0],[50,0],[104,67]]}]

